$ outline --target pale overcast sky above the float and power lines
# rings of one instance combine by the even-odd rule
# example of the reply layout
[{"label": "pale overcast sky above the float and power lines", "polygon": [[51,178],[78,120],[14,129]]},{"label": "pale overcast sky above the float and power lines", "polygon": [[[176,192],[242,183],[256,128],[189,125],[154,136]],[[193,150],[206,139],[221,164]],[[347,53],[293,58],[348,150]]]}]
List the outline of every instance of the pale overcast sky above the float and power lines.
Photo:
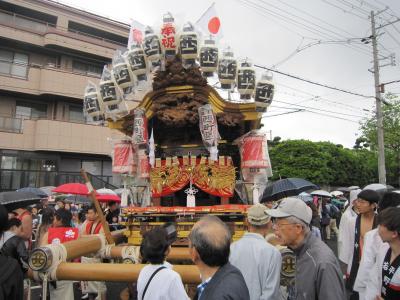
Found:
[{"label": "pale overcast sky above the float and power lines", "polygon": [[[224,34],[221,44],[230,45],[237,57],[248,57],[266,67],[276,65],[281,72],[367,96],[374,95],[374,78],[368,71],[372,68],[372,46],[362,44],[360,39],[371,34],[369,13],[389,7],[376,19],[377,26],[400,16],[398,0],[59,2],[126,23],[135,19],[151,26],[160,24],[167,11],[178,23],[196,22],[215,2]],[[400,22],[384,27],[379,33],[380,54],[395,53],[399,61]],[[320,44],[295,53],[296,49],[318,41]],[[385,63],[388,61],[381,62]],[[400,79],[399,66],[383,67],[380,74],[381,82]],[[331,141],[352,147],[359,133],[358,122],[375,110],[373,98],[337,92],[278,74],[274,75],[274,81],[274,102],[263,119],[264,128],[271,130],[272,136]],[[400,84],[388,85],[386,90],[400,93]],[[313,112],[280,115],[294,108]]]}]

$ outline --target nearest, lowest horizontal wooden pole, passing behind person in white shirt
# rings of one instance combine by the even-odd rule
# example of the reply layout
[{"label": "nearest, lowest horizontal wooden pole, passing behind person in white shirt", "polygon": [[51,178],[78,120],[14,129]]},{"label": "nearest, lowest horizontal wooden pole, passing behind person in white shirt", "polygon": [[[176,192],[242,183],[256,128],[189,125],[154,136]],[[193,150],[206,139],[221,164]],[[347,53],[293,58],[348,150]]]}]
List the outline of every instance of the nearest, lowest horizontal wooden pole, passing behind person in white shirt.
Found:
[{"label": "nearest, lowest horizontal wooden pole, passing behind person in white shirt", "polygon": [[[60,263],[57,280],[136,282],[143,264],[77,264]],[[174,265],[183,283],[199,284],[200,273],[194,265]]]}]

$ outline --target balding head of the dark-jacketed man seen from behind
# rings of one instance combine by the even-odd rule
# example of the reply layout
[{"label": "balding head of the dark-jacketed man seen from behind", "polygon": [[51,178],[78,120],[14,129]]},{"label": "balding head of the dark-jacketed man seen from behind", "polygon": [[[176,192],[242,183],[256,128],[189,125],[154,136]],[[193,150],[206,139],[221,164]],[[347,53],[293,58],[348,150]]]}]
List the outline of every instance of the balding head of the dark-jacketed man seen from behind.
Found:
[{"label": "balding head of the dark-jacketed man seen from behind", "polygon": [[231,234],[216,216],[201,218],[192,228],[189,239],[207,266],[223,266],[228,262]]}]

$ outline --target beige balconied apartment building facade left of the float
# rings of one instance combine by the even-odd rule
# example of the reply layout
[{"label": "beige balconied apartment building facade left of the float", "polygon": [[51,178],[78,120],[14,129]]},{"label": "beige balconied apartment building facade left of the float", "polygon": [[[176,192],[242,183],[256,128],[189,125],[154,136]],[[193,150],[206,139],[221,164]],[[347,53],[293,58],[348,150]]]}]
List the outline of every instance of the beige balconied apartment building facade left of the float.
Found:
[{"label": "beige balconied apartment building facade left of the float", "polygon": [[[112,180],[111,161],[108,157],[112,144],[108,138],[120,138],[122,134],[103,126],[69,121],[70,105],[82,105],[87,82],[90,80],[97,84],[100,77],[74,72],[73,61],[80,60],[89,64],[95,62],[93,64],[99,65],[111,62],[115,50],[123,49],[125,45],[71,32],[68,26],[72,21],[121,38],[127,38],[129,26],[53,1],[2,2],[54,16],[56,24],[0,10],[0,48],[25,53],[29,57],[26,78],[0,74],[0,157],[2,153],[6,155],[5,152],[14,153],[14,156],[40,156],[43,159],[54,156],[58,170],[47,172],[0,168],[0,190],[16,189],[21,185],[39,186],[39,182],[42,183],[46,176],[55,180],[46,181],[51,185],[67,182],[70,179],[65,174],[79,172],[82,160],[100,160],[103,166],[101,178]],[[16,118],[17,100],[46,103],[48,119]],[[61,172],[65,174],[61,175]],[[4,176],[8,180],[6,187],[2,187],[2,180],[6,178]],[[79,177],[79,174],[76,176]],[[19,180],[20,177],[25,179]],[[31,177],[43,178],[34,183],[28,180]],[[109,179],[107,182],[111,183]],[[103,183],[98,184],[104,186]],[[119,183],[114,181],[114,184]]]}]

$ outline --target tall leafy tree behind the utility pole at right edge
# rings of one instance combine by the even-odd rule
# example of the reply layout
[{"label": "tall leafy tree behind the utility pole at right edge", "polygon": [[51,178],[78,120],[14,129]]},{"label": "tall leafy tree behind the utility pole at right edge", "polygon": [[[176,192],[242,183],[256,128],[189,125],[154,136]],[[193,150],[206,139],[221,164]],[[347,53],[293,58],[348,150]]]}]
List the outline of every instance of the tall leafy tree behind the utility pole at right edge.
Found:
[{"label": "tall leafy tree behind the utility pole at right edge", "polygon": [[[385,98],[389,103],[382,108],[387,182],[400,186],[400,98],[392,94]],[[376,117],[372,116],[364,119],[360,127],[361,139],[375,153],[378,149],[376,126]]]}]

